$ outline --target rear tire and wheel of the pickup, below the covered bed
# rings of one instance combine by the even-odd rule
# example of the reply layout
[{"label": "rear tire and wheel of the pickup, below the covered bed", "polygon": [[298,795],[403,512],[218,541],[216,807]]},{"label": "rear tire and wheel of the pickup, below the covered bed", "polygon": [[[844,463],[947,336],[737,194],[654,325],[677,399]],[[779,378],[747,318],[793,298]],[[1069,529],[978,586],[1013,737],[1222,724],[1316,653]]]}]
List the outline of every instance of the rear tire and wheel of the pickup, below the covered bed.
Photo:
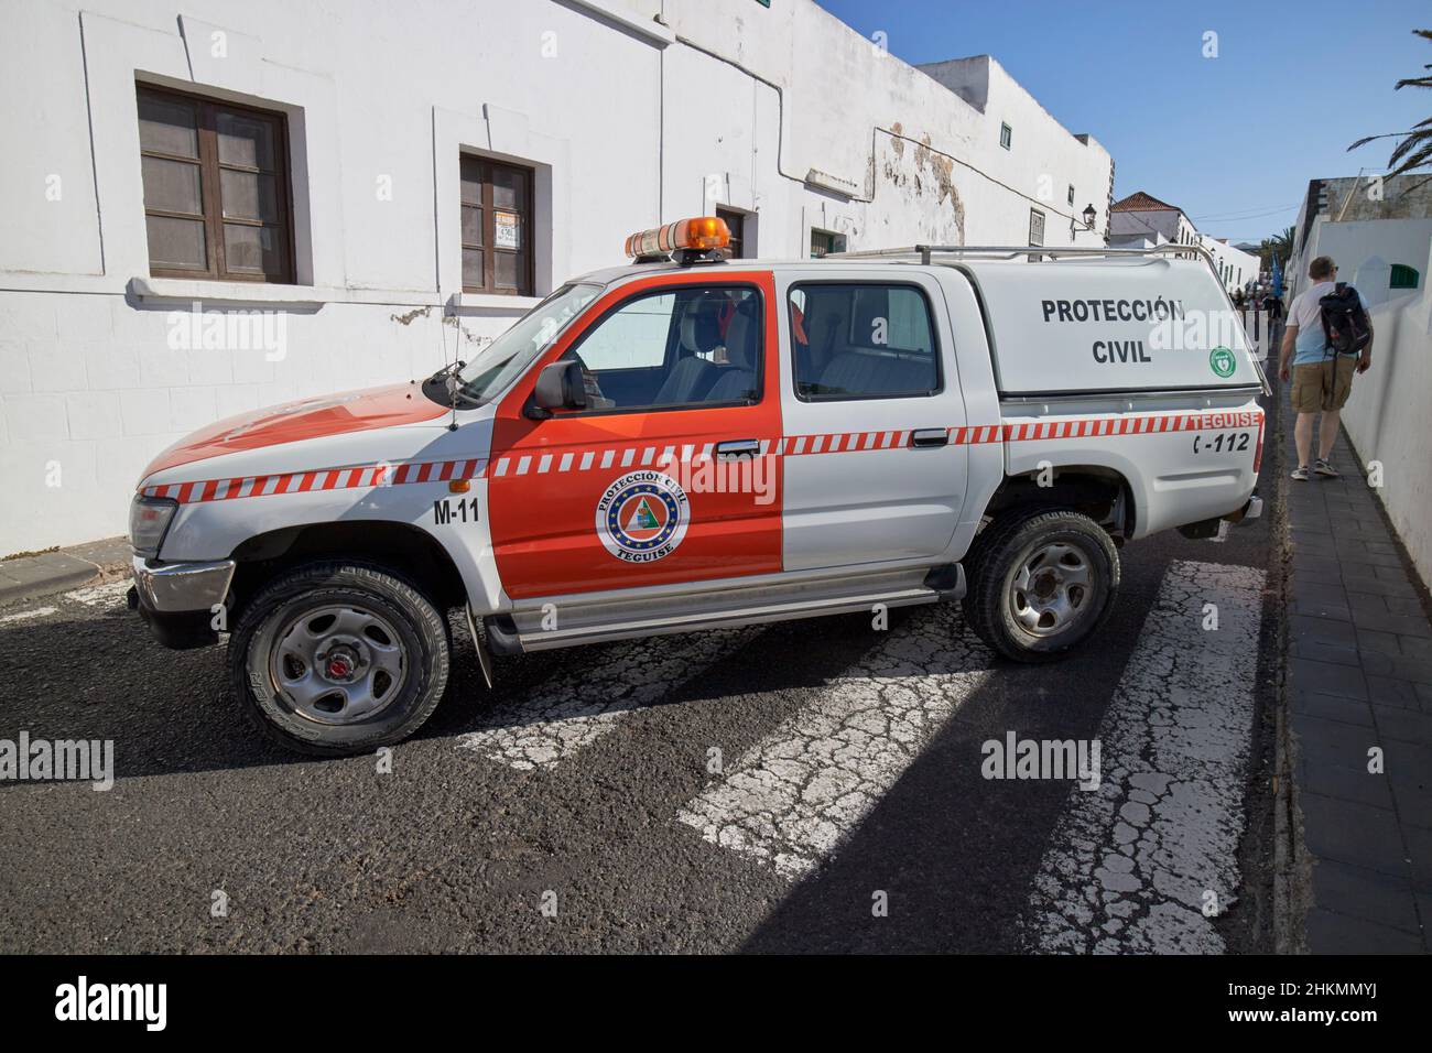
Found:
[{"label": "rear tire and wheel of the pickup, below the covered bed", "polygon": [[1035,509],[995,520],[971,546],[965,619],[1017,662],[1053,662],[1108,619],[1118,550],[1088,516]]}]

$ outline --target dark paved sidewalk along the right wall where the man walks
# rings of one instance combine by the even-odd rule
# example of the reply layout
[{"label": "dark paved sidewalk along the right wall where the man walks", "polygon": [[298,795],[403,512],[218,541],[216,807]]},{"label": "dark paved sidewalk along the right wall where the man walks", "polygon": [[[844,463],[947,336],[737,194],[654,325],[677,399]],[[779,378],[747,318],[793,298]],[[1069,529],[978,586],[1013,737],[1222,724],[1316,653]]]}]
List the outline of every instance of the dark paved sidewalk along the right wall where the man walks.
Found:
[{"label": "dark paved sidewalk along the right wall where the man walks", "polygon": [[[1290,470],[1293,414],[1277,397]],[[1412,423],[1416,425],[1416,423]],[[1316,456],[1316,451],[1315,451]],[[1307,950],[1432,950],[1432,625],[1346,433],[1287,481],[1287,688],[1312,865]],[[1369,751],[1382,751],[1380,772]]]}]

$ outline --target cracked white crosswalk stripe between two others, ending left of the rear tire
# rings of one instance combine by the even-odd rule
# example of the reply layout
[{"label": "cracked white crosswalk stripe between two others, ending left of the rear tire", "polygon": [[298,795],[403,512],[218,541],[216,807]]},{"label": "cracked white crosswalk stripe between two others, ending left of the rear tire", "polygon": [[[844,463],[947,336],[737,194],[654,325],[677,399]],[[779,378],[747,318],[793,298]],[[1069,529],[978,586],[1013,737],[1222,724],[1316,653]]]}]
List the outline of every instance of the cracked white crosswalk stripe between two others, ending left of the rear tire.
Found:
[{"label": "cracked white crosswalk stripe between two others, ending left of the rear tire", "polygon": [[919,612],[758,742],[677,818],[796,878],[838,851],[994,656],[942,603]]}]

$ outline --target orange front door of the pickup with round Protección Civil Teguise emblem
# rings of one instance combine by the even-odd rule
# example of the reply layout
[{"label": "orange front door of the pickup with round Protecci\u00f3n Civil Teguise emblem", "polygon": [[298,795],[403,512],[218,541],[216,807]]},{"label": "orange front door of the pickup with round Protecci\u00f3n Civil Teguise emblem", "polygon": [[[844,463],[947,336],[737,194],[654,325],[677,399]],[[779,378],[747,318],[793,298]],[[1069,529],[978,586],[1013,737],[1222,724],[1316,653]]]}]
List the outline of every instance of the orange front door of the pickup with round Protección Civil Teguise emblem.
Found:
[{"label": "orange front door of the pickup with round Protecci\u00f3n Civil Teguise emblem", "polygon": [[[624,282],[503,398],[488,500],[513,599],[780,570],[780,384],[769,271]],[[589,407],[534,420],[540,371],[581,362]]]}]

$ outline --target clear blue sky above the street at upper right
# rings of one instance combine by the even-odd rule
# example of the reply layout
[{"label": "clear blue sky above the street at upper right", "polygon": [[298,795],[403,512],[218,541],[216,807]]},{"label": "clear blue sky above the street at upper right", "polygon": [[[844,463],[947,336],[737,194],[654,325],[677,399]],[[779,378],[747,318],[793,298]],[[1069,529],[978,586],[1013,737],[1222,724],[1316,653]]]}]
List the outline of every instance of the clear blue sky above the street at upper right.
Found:
[{"label": "clear blue sky above the street at upper right", "polygon": [[818,3],[866,37],[884,30],[909,63],[992,54],[1108,148],[1116,199],[1147,191],[1233,241],[1290,225],[1309,179],[1385,170],[1395,140],[1348,153],[1355,139],[1432,116],[1432,90],[1392,90],[1432,62],[1412,36],[1432,29],[1426,0]]}]

